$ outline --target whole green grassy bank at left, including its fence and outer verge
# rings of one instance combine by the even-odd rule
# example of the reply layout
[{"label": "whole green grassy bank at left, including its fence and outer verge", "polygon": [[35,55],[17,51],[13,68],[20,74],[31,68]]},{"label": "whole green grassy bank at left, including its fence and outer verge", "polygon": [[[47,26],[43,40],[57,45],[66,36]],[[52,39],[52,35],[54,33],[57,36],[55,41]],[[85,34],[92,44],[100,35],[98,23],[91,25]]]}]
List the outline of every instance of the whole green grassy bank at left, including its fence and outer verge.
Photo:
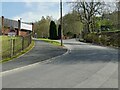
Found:
[{"label": "whole green grassy bank at left, including its fence and outer verge", "polygon": [[[20,56],[21,54],[27,52],[33,45],[30,45],[30,35],[26,37],[9,37],[0,36],[0,46],[1,52],[0,56],[2,60],[0,62],[9,61],[13,58]],[[12,53],[12,54],[11,54]]]}]

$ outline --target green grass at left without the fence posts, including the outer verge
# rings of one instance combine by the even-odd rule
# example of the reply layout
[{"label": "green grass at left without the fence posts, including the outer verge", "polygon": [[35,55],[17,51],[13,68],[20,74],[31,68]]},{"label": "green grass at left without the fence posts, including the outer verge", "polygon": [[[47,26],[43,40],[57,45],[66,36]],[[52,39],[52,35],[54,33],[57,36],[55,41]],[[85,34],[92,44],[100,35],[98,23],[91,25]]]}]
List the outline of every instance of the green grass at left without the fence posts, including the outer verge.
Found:
[{"label": "green grass at left without the fence posts, including the outer verge", "polygon": [[[14,55],[11,57],[11,37],[9,36],[0,36],[0,56],[3,60],[0,62],[9,61],[13,58],[16,58],[25,52],[29,51],[31,45],[28,47],[28,38],[24,38],[24,48],[25,50],[22,51],[22,38],[21,37],[14,37],[15,44],[14,44]],[[28,48],[27,48],[28,47]]]}]

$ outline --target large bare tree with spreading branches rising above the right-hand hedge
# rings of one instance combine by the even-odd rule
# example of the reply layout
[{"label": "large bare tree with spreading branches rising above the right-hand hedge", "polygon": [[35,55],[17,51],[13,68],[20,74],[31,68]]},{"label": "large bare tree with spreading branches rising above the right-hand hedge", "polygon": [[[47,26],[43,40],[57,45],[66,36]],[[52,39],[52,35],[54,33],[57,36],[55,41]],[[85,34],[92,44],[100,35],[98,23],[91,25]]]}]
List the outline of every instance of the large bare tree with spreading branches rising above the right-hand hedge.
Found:
[{"label": "large bare tree with spreading branches rising above the right-hand hedge", "polygon": [[78,12],[87,33],[92,32],[90,25],[94,23],[94,17],[102,13],[104,5],[104,2],[94,2],[94,0],[91,0],[90,2],[82,0],[73,2],[73,9]]}]

